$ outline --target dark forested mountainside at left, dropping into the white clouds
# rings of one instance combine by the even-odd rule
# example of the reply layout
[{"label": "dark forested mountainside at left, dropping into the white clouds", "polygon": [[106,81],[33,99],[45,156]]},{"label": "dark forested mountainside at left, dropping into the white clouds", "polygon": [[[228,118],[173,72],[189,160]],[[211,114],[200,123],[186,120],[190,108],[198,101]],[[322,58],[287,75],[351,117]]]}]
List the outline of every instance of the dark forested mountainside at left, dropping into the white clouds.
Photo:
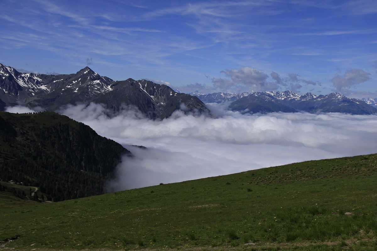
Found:
[{"label": "dark forested mountainside at left, dropping into the white clouds", "polygon": [[57,113],[0,112],[0,179],[36,186],[54,201],[104,193],[120,144]]}]

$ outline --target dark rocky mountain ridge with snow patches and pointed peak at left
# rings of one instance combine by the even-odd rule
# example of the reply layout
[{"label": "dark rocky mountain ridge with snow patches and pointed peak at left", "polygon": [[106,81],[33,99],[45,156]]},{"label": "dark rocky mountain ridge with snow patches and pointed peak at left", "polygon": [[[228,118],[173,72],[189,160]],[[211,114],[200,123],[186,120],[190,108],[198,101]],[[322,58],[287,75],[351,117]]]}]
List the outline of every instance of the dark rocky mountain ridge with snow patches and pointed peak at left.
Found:
[{"label": "dark rocky mountain ridge with snow patches and pointed peak at left", "polygon": [[151,119],[169,117],[176,110],[209,112],[197,97],[144,79],[113,81],[89,67],[69,75],[20,73],[0,64],[1,110],[22,103],[30,108],[41,106],[46,111],[55,111],[78,102],[103,103],[115,111],[122,105],[133,105]]}]

